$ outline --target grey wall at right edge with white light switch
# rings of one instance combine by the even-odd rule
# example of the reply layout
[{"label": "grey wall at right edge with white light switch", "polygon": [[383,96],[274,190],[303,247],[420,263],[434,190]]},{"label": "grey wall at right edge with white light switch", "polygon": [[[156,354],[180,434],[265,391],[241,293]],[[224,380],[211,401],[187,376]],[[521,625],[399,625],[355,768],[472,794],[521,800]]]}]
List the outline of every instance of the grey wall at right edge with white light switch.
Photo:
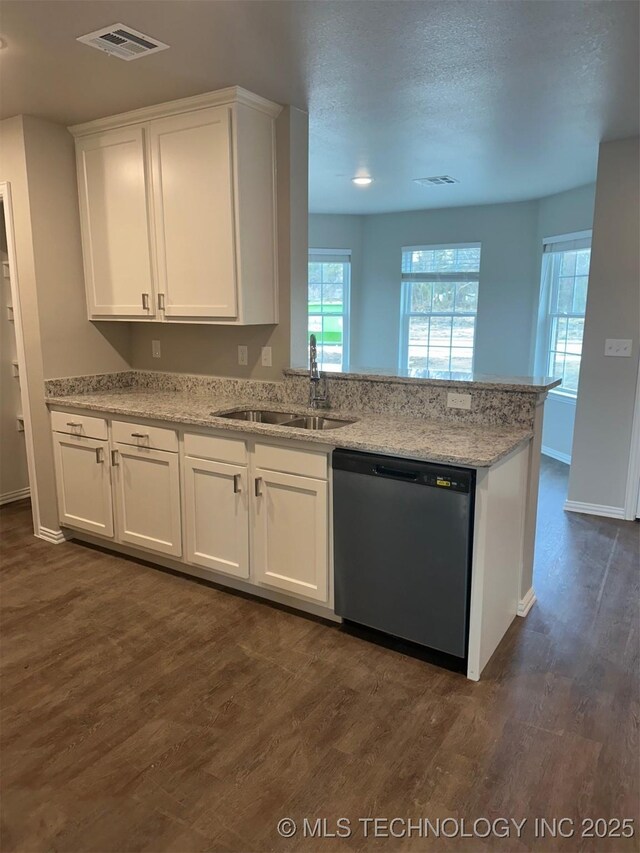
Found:
[{"label": "grey wall at right edge with white light switch", "polygon": [[[579,509],[586,504],[592,510],[618,515],[624,508],[638,375],[639,142],[635,137],[600,145],[569,478],[569,506]],[[606,357],[605,338],[631,338],[633,357]]]}]

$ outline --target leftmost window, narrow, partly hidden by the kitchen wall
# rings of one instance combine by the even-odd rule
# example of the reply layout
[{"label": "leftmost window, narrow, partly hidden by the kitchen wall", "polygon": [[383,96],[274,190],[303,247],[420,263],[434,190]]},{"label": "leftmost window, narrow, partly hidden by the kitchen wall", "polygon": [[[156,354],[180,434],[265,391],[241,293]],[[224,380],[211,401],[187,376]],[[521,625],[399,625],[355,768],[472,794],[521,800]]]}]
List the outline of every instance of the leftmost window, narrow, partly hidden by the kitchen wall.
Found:
[{"label": "leftmost window, narrow, partly hidden by the kitchen wall", "polygon": [[320,370],[349,367],[351,251],[309,249],[309,334],[318,343]]}]

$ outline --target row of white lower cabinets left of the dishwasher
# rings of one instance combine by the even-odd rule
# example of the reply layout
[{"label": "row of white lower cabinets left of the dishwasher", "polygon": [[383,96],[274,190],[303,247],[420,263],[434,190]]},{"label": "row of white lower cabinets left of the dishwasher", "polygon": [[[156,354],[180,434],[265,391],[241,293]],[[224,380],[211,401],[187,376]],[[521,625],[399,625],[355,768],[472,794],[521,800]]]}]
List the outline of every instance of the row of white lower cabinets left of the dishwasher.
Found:
[{"label": "row of white lower cabinets left of the dishwasher", "polygon": [[64,526],[256,592],[330,604],[328,452],[222,433],[187,432],[181,445],[175,428],[62,412],[51,420]]}]

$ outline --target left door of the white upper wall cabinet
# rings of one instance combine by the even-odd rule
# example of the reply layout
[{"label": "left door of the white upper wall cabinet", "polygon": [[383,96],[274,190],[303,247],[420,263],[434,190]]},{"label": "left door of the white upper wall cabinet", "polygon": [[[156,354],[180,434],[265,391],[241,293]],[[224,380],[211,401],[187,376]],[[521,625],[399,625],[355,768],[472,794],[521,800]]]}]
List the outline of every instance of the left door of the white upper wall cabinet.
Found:
[{"label": "left door of the white upper wall cabinet", "polygon": [[82,137],[76,157],[89,317],[153,317],[144,131]]}]

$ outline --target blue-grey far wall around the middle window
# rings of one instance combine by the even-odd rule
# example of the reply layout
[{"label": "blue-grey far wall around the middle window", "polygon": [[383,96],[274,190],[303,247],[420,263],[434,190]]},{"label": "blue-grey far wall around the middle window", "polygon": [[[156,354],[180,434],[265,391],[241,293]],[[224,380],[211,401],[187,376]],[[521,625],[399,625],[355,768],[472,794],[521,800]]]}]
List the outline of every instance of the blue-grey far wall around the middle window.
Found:
[{"label": "blue-grey far wall around the middle window", "polygon": [[482,243],[476,371],[531,372],[537,307],[535,201],[373,216],[315,214],[309,245],[353,250],[351,366],[395,369],[403,246]]}]

